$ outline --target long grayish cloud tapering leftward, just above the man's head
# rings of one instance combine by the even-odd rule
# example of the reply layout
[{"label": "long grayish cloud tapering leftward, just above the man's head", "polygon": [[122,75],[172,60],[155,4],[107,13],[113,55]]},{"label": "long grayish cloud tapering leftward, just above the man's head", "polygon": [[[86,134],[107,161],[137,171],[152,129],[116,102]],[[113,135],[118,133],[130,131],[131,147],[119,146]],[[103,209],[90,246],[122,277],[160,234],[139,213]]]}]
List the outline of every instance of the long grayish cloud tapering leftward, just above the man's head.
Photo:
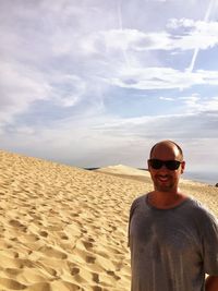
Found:
[{"label": "long grayish cloud tapering leftward, just above the man's head", "polygon": [[113,119],[105,124],[96,124],[94,130],[107,136],[133,140],[166,138],[166,135],[171,138],[216,138],[218,110],[207,109],[180,114]]}]

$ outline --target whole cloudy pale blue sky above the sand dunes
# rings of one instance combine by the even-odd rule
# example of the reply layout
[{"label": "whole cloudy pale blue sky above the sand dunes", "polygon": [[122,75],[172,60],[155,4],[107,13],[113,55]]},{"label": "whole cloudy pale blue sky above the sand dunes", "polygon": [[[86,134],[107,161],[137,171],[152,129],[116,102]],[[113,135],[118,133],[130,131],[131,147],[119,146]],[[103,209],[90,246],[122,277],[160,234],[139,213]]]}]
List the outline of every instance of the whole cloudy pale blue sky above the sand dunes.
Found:
[{"label": "whole cloudy pale blue sky above the sand dunes", "polygon": [[218,0],[1,0],[0,39],[1,149],[218,173]]}]

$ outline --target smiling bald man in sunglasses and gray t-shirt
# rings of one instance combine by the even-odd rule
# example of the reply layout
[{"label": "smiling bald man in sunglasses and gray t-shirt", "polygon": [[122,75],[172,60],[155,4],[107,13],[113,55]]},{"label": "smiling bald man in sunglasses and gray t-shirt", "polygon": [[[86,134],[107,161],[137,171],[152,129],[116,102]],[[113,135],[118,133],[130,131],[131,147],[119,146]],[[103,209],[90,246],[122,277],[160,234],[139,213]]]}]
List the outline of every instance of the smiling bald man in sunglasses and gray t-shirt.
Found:
[{"label": "smiling bald man in sunglasses and gray t-shirt", "polygon": [[137,197],[130,213],[132,291],[218,291],[217,220],[179,191],[184,168],[174,142],[152,148],[154,191]]}]

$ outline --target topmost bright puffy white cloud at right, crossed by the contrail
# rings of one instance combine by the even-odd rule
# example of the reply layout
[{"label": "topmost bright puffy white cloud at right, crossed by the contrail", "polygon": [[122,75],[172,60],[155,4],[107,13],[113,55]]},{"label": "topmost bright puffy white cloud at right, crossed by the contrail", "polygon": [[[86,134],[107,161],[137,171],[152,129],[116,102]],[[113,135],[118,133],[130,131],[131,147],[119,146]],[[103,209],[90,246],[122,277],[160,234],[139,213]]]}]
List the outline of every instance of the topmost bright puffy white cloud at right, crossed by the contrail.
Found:
[{"label": "topmost bright puffy white cloud at right, crossed by the contrail", "polygon": [[[137,29],[100,31],[85,39],[82,47],[89,52],[100,50],[192,50],[208,49],[218,45],[218,23],[172,19],[167,24],[170,32],[145,33]],[[82,41],[83,44],[83,41]]]}]

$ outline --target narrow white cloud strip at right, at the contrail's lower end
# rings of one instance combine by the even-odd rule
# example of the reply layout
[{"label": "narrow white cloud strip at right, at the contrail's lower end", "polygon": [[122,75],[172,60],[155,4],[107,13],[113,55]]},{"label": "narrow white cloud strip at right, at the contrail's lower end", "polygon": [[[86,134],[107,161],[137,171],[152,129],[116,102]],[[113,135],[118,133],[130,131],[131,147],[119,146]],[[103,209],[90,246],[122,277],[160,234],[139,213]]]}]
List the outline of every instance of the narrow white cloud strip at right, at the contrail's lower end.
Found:
[{"label": "narrow white cloud strip at right, at the contrail's lower end", "polygon": [[123,88],[171,89],[189,88],[194,85],[217,85],[218,72],[197,70],[178,71],[171,68],[123,68],[117,77],[106,80]]}]

